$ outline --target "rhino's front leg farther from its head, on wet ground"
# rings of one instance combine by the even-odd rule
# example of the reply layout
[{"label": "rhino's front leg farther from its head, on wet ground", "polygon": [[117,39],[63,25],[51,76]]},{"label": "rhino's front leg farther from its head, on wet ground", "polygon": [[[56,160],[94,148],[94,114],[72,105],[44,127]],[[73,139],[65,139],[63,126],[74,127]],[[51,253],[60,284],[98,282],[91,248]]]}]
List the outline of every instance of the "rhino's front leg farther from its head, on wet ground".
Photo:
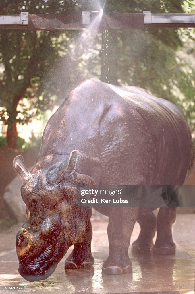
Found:
[{"label": "rhino's front leg farther from its head, on wet ground", "polygon": [[138,208],[110,208],[107,228],[109,256],[102,266],[107,275],[132,273],[128,248],[137,214]]}]

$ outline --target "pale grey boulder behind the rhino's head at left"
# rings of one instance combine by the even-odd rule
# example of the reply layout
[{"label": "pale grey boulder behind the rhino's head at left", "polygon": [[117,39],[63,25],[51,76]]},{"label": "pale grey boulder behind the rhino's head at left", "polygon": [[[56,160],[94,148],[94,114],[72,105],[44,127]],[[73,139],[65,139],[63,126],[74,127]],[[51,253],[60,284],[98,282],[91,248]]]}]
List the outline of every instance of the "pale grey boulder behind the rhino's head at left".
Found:
[{"label": "pale grey boulder behind the rhino's head at left", "polygon": [[[32,168],[30,168],[31,170]],[[17,176],[5,188],[4,206],[9,217],[15,222],[24,222],[26,219],[26,205],[22,200],[20,188],[22,186],[21,177]]]}]

